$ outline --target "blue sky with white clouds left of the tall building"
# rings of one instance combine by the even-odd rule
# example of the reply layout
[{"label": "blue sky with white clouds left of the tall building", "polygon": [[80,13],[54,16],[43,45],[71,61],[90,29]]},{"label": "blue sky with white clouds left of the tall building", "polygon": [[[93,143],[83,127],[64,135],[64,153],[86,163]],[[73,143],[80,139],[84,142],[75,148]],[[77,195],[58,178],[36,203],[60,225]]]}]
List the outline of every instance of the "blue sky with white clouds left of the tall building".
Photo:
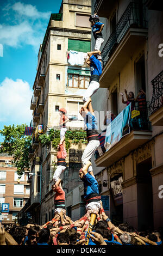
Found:
[{"label": "blue sky with white clouds left of the tall building", "polygon": [[61,2],[0,0],[0,130],[30,124],[37,53],[49,17],[59,12]]}]

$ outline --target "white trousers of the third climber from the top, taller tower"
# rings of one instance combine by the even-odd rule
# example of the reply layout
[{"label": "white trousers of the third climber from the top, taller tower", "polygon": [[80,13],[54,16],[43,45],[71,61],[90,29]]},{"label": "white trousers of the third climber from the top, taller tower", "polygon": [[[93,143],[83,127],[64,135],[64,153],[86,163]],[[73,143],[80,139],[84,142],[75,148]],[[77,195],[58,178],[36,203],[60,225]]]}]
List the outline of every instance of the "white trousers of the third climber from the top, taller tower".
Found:
[{"label": "white trousers of the third climber from the top, taller tower", "polygon": [[[100,143],[97,140],[89,141],[82,155],[82,166],[84,166],[87,163],[87,161],[91,159],[93,153],[99,147],[99,144]],[[93,171],[92,166],[90,166],[87,171],[88,172]]]}]

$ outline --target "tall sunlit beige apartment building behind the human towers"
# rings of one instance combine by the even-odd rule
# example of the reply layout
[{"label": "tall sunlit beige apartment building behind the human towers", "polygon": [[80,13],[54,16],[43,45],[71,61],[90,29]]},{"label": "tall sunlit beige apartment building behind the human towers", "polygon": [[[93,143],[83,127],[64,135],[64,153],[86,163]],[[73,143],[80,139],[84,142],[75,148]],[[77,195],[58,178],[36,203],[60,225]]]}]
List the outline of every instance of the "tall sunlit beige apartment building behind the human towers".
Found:
[{"label": "tall sunlit beige apartment building behind the human towers", "polygon": [[[68,115],[78,120],[68,122],[67,129],[83,129],[84,121],[79,115],[83,104],[83,94],[89,85],[90,69],[84,63],[68,62],[70,51],[82,52],[91,50],[91,28],[89,17],[91,1],[62,1],[58,14],[52,14],[45,33],[45,38],[38,54],[37,74],[34,81],[34,95],[30,109],[33,110],[30,199],[20,214],[30,212],[34,223],[42,224],[54,216],[53,183],[54,164],[57,162],[57,151],[50,145],[42,146],[39,142],[41,133],[49,134],[51,129],[59,129],[59,109],[66,108]],[[37,128],[40,129],[38,132]],[[81,167],[81,156],[85,144],[71,143],[67,152],[63,188],[65,192],[78,186],[78,170]]]}]

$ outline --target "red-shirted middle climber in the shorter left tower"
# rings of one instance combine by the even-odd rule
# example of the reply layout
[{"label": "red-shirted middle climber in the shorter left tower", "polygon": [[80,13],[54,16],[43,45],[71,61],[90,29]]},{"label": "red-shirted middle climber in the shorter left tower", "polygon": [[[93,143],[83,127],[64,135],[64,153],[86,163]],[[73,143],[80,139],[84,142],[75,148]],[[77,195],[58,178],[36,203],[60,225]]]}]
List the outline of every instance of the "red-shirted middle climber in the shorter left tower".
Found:
[{"label": "red-shirted middle climber in the shorter left tower", "polygon": [[62,137],[60,140],[60,143],[58,145],[58,152],[57,152],[57,169],[54,172],[53,180],[54,182],[59,180],[59,177],[62,172],[66,169],[66,143],[65,143],[65,137]]}]

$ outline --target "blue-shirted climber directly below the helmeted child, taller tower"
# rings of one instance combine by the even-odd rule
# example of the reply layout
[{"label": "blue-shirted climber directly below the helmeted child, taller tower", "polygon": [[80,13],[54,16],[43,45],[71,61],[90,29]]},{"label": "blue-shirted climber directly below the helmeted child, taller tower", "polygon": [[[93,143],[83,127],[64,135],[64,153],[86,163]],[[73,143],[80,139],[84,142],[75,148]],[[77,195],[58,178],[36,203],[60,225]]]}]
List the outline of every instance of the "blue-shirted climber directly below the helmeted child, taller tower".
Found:
[{"label": "blue-shirted climber directly below the helmeted child, taller tower", "polygon": [[102,65],[101,59],[97,59],[97,53],[101,55],[101,51],[87,52],[88,58],[85,62],[90,66],[91,77],[89,87],[86,89],[83,96],[83,102],[86,102],[99,88],[99,77],[102,74]]}]

